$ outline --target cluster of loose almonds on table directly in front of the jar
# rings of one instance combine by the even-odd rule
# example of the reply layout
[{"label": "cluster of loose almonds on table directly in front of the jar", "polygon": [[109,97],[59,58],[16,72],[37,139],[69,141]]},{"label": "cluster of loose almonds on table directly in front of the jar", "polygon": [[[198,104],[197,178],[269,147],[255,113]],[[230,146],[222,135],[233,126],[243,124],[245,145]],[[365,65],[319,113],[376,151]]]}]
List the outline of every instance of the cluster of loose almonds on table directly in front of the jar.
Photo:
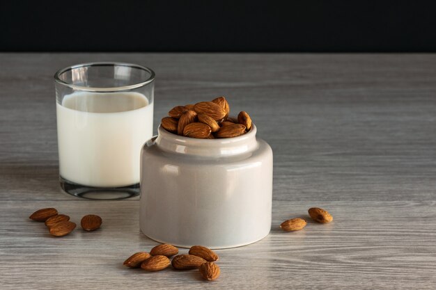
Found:
[{"label": "cluster of loose almonds on table directly in front of the jar", "polygon": [[[175,257],[173,257],[176,255]],[[170,257],[173,260],[170,261]],[[201,277],[212,281],[219,277],[219,266],[215,261],[218,255],[202,245],[193,245],[188,254],[178,255],[178,248],[168,243],[157,245],[148,252],[136,252],[124,261],[124,266],[130,268],[142,268],[146,271],[161,271],[170,265],[178,270],[190,270],[198,268]]]}]

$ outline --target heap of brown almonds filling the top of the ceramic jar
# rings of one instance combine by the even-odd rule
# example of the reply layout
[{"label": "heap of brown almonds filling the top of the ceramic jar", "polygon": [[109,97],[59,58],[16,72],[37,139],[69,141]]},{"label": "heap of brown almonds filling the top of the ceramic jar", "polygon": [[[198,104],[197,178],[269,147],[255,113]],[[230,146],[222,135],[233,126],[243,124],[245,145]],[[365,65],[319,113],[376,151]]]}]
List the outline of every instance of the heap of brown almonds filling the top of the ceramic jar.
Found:
[{"label": "heap of brown almonds filling the top of the ceramic jar", "polygon": [[251,118],[247,112],[240,112],[238,118],[231,118],[230,106],[225,97],[211,102],[199,102],[175,106],[162,118],[161,125],[173,134],[191,138],[215,139],[241,136],[251,129]]}]

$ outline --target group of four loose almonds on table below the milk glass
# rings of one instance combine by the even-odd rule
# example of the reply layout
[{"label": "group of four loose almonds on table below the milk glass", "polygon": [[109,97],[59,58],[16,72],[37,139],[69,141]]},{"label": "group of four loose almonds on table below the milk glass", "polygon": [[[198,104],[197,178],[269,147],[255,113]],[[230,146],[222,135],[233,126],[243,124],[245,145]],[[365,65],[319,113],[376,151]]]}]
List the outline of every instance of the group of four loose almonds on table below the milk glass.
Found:
[{"label": "group of four loose almonds on table below the milk glass", "polygon": [[[66,236],[76,228],[76,224],[70,221],[69,216],[59,214],[57,209],[54,209],[53,207],[38,209],[38,211],[31,214],[29,218],[38,222],[45,222],[45,225],[48,227],[52,236]],[[100,225],[102,225],[102,218],[95,214],[88,214],[81,218],[80,225],[86,232],[91,232],[100,228]]]}]

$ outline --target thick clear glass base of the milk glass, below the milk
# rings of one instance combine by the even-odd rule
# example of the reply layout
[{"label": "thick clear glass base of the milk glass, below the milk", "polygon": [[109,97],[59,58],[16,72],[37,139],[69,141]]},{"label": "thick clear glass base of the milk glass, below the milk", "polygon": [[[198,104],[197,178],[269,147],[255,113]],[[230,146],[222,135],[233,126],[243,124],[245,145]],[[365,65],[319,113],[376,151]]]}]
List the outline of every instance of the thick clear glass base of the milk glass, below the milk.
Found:
[{"label": "thick clear glass base of the milk glass, below the milk", "polygon": [[102,188],[76,184],[62,177],[59,177],[59,182],[61,182],[61,188],[65,193],[88,200],[123,200],[137,196],[140,192],[139,183],[131,186]]}]

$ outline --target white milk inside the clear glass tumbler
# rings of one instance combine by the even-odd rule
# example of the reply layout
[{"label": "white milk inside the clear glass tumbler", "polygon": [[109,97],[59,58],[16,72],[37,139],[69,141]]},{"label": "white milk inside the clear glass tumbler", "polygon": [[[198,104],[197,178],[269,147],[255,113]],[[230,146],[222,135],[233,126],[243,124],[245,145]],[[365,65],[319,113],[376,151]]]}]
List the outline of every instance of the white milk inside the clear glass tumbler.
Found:
[{"label": "white milk inside the clear glass tumbler", "polygon": [[56,104],[59,171],[70,182],[139,182],[141,147],[153,135],[153,103],[138,92],[75,92]]}]

